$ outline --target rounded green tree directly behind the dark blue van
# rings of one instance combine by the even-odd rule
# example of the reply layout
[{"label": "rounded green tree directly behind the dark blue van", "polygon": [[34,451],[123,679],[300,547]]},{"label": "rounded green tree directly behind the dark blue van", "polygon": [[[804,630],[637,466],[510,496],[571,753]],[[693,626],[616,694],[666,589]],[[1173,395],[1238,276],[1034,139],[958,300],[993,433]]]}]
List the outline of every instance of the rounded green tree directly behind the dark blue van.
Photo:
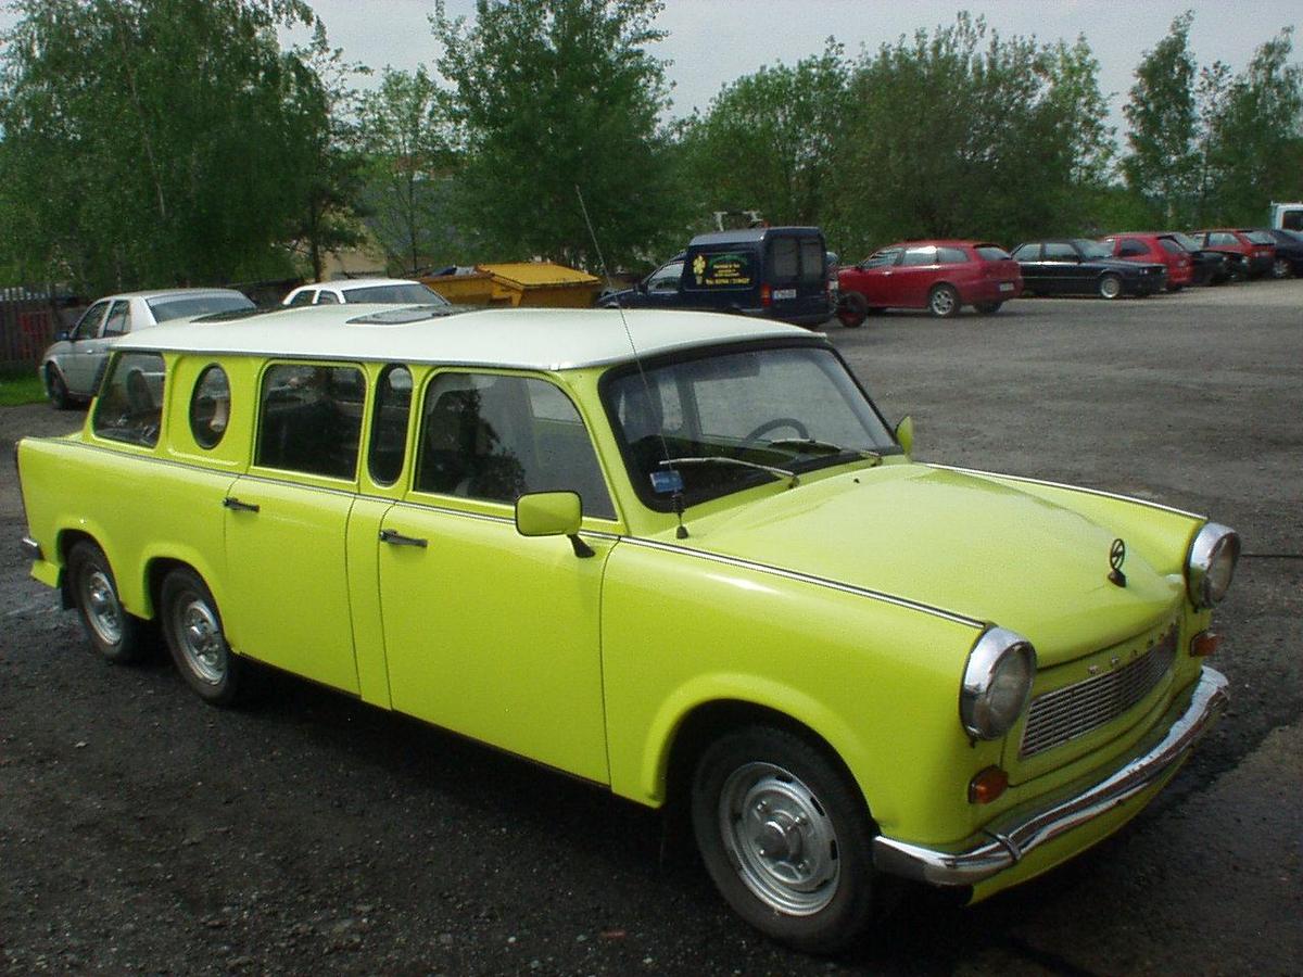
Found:
[{"label": "rounded green tree directly behind the dark blue van", "polygon": [[685,193],[698,215],[760,210],[774,224],[822,220],[850,81],[843,47],[830,38],[822,55],[726,85],[680,137]]}]

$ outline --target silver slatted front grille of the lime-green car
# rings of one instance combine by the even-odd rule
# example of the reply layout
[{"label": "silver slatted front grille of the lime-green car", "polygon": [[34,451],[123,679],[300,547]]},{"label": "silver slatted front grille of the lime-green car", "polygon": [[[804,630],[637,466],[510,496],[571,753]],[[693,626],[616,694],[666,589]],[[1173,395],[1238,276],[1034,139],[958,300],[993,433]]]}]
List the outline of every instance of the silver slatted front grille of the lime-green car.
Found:
[{"label": "silver slatted front grille of the lime-green car", "polygon": [[1019,757],[1044,753],[1113,722],[1148,696],[1177,657],[1175,625],[1127,664],[1032,700]]}]

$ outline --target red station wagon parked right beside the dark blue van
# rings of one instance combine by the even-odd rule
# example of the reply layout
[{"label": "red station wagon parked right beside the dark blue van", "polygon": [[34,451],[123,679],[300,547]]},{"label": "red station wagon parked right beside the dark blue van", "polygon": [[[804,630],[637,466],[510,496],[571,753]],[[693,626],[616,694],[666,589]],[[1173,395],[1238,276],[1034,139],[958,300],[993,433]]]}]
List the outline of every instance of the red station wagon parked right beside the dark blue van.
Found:
[{"label": "red station wagon parked right beside the dark blue van", "polygon": [[971,305],[990,315],[1023,292],[1018,262],[985,241],[904,241],[842,268],[837,277],[837,318],[850,327],[883,309],[928,309],[950,317]]}]

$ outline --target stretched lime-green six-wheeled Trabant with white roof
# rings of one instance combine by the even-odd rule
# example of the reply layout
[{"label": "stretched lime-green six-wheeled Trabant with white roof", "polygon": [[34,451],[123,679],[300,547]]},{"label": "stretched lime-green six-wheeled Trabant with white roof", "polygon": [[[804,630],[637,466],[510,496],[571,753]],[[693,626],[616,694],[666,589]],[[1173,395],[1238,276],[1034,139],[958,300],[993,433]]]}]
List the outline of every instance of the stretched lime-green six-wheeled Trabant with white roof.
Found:
[{"label": "stretched lime-green six-wheeled Trabant with white roof", "polygon": [[33,574],[680,804],[748,922],[835,950],[891,877],[981,899],[1115,831],[1222,713],[1200,516],[921,464],[831,344],[704,313],[308,307],[128,336],[23,439]]}]

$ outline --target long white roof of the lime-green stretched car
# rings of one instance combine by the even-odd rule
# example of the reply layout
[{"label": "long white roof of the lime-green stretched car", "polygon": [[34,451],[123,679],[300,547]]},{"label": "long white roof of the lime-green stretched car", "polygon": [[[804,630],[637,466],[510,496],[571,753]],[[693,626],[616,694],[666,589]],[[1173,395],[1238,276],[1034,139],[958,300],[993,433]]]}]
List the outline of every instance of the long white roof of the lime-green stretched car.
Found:
[{"label": "long white roof of the lime-green stretched car", "polygon": [[[625,331],[627,324],[627,331]],[[117,341],[119,349],[240,353],[294,360],[507,366],[566,370],[735,343],[809,337],[808,330],[719,313],[635,309],[434,306],[278,306],[246,318],[167,323]]]}]

